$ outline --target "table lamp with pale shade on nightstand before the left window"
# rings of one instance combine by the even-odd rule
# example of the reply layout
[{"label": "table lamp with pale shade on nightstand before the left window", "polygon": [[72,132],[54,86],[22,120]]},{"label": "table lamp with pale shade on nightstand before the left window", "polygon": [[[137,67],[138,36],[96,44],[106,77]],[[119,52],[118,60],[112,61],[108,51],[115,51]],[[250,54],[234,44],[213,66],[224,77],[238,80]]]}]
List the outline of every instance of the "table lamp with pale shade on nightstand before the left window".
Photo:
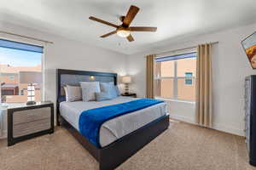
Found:
[{"label": "table lamp with pale shade on nightstand before the left window", "polygon": [[26,105],[35,105],[35,87],[34,84],[42,83],[42,72],[38,71],[20,71],[19,72],[20,84],[27,85],[27,102]]}]

